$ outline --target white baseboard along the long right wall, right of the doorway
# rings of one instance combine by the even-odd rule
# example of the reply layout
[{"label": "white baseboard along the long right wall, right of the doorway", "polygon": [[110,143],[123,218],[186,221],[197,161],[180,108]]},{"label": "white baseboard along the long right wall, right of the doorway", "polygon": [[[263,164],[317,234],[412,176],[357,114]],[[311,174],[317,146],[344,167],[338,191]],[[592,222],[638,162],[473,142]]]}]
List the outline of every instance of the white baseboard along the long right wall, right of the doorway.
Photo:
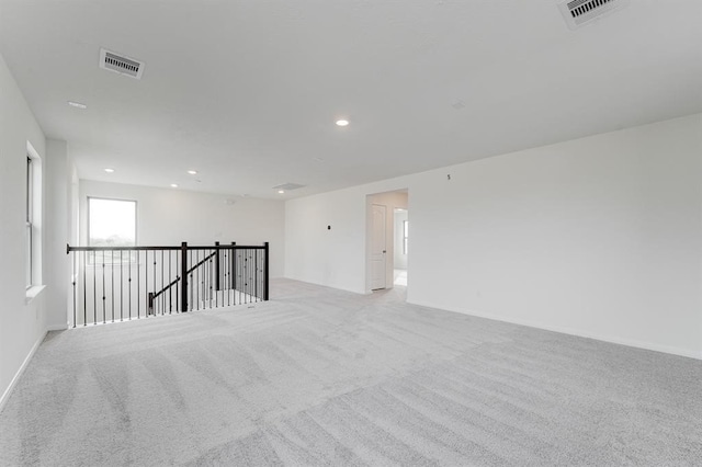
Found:
[{"label": "white baseboard along the long right wall, right of the doorway", "polygon": [[[412,305],[418,305],[420,307],[442,309],[442,308],[437,308],[437,306],[432,306],[430,304],[423,304],[423,303],[419,303],[419,301],[409,301],[408,300],[407,303],[408,304],[411,303]],[[544,326],[544,324],[539,323],[539,322],[533,322],[533,321],[528,321],[528,320],[516,320],[516,319],[511,319],[511,318],[505,318],[505,317],[501,317],[501,316],[483,314],[483,312],[473,311],[473,310],[471,310],[471,311],[468,311],[468,310],[458,310],[458,309],[443,309],[443,310],[444,311],[451,311],[451,312],[458,312],[461,315],[475,316],[477,318],[491,319],[494,321],[509,322],[510,324],[519,324],[519,326],[525,326],[528,328],[535,328],[535,329],[542,329],[542,330],[545,330],[545,331],[558,332],[561,334],[568,334],[568,335],[576,335],[578,338],[593,339],[596,341],[609,342],[609,343],[612,343],[612,344],[626,345],[626,346],[630,346],[630,348],[644,349],[644,350],[649,350],[649,351],[654,351],[654,352],[661,352],[661,353],[668,353],[668,354],[678,355],[678,356],[686,356],[688,358],[702,360],[702,352],[694,352],[694,351],[690,351],[690,350],[687,350],[687,349],[680,349],[680,348],[670,346],[670,345],[663,345],[663,344],[657,344],[657,343],[654,343],[654,342],[638,341],[638,340],[634,340],[634,339],[622,339],[622,338],[612,337],[612,335],[602,335],[602,334],[598,334],[598,333],[584,332],[584,331],[580,331],[580,330],[577,330],[577,329],[563,328],[563,327],[558,327],[558,326]]]}]

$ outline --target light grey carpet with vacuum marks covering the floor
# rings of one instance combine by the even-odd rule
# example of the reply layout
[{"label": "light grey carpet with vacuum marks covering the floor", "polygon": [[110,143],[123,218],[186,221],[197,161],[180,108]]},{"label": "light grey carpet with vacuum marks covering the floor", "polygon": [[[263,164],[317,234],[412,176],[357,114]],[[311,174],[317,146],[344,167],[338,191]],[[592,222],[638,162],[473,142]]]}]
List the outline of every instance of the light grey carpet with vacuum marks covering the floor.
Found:
[{"label": "light grey carpet with vacuum marks covering the floor", "polygon": [[0,465],[702,464],[702,362],[276,281],[48,335]]}]

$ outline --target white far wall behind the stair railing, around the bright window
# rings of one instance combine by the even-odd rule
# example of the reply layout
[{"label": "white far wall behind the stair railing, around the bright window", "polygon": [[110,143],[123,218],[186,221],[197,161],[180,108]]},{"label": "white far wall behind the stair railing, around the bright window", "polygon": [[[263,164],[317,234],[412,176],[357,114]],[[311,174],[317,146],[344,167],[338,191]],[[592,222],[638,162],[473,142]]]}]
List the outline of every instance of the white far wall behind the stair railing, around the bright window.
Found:
[{"label": "white far wall behind the stair railing, around the bright window", "polygon": [[[215,241],[237,244],[270,242],[271,277],[283,275],[284,204],[281,201],[231,198],[225,195],[157,189],[120,183],[80,181],[80,213],[88,196],[137,202],[137,242],[140,246],[207,246]],[[227,200],[234,204],[226,204]],[[86,216],[80,236],[86,242]]]}]

